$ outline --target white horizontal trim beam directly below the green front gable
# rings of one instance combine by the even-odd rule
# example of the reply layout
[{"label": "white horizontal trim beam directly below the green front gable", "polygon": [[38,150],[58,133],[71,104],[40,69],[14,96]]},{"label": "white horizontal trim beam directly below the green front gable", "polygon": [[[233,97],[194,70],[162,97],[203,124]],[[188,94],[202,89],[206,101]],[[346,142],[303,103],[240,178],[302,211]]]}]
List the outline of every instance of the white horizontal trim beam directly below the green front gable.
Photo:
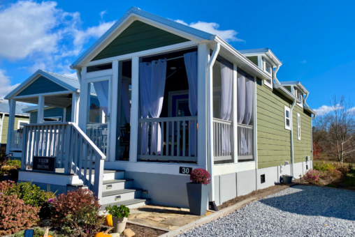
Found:
[{"label": "white horizontal trim beam directly below the green front gable", "polygon": [[[95,65],[100,65],[103,63],[110,63],[112,61],[123,61],[123,60],[127,60],[127,59],[132,59],[134,56],[150,56],[150,55],[154,55],[157,53],[166,53],[166,52],[170,52],[170,51],[175,51],[178,49],[184,49],[186,47],[193,47],[193,46],[197,46],[198,43],[194,42],[194,41],[188,41],[188,42],[184,42],[184,43],[178,43],[175,45],[168,45],[168,46],[164,46],[164,47],[157,47],[155,49],[147,49],[144,51],[140,51],[140,52],[134,52],[131,54],[124,54],[124,55],[119,55],[119,56],[113,56],[107,59],[99,59],[96,61],[89,61],[85,66],[89,67],[89,66],[95,66]],[[89,72],[92,73],[92,72]]]}]

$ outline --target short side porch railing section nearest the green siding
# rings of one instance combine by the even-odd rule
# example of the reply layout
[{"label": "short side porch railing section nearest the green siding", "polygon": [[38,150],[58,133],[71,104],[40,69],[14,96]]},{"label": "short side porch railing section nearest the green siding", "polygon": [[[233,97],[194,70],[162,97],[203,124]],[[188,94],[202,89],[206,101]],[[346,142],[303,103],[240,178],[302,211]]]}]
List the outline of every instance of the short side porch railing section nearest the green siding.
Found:
[{"label": "short side porch railing section nearest the green siding", "polygon": [[253,159],[253,126],[238,123],[238,160]]}]

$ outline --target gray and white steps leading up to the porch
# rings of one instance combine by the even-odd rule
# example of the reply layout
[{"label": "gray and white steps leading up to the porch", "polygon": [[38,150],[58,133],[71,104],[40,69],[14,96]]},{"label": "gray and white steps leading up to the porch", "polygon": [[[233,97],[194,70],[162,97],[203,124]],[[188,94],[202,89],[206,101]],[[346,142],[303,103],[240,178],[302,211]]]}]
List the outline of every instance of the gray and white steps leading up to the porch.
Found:
[{"label": "gray and white steps leading up to the porch", "polygon": [[[94,180],[94,177],[92,177],[92,180]],[[100,200],[102,209],[108,205],[125,205],[128,208],[138,208],[150,203],[149,198],[141,197],[141,188],[133,188],[133,179],[124,178],[124,170],[104,170],[102,185],[102,198]],[[73,190],[87,188],[78,176],[73,176],[72,184],[67,186]]]}]

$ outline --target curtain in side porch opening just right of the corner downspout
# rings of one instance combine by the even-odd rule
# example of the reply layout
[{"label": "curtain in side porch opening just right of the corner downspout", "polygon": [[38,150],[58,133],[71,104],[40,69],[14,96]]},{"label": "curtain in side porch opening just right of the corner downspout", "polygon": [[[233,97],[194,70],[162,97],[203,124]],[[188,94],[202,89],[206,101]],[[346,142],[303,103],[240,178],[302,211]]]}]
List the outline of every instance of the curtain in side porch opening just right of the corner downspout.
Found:
[{"label": "curtain in side porch opening just right of the corner downspout", "polygon": [[[228,62],[226,62],[228,63]],[[233,65],[231,63],[221,63],[221,112],[220,119],[229,121],[232,109],[232,82],[233,82]],[[222,149],[225,153],[231,153],[231,137],[229,132],[222,128]]]}]

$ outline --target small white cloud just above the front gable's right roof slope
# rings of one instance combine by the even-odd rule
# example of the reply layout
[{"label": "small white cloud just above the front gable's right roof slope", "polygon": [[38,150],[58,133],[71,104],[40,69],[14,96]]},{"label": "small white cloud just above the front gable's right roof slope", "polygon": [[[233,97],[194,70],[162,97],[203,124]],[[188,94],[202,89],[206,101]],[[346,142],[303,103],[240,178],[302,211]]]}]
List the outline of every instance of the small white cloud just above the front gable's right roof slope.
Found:
[{"label": "small white cloud just above the front gable's right roof slope", "polygon": [[184,24],[187,26],[191,26],[195,29],[199,29],[201,31],[206,31],[208,33],[212,33],[214,35],[218,35],[219,37],[223,38],[227,42],[245,42],[245,40],[242,40],[240,38],[237,38],[238,32],[235,30],[220,30],[219,29],[219,24],[215,22],[192,22],[190,24],[187,24],[183,20],[175,20],[175,22],[178,22],[180,24]]}]

